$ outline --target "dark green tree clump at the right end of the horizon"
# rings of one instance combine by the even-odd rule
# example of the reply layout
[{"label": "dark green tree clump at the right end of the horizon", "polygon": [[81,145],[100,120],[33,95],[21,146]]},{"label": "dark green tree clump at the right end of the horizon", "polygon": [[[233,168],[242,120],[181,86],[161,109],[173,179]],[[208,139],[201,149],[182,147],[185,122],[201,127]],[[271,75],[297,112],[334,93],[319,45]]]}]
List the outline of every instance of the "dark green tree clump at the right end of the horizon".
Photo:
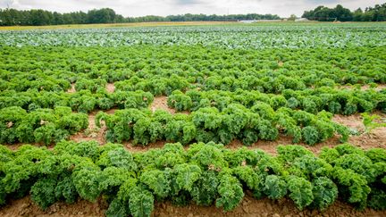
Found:
[{"label": "dark green tree clump at the right end of the horizon", "polygon": [[340,4],[335,8],[318,6],[303,13],[302,17],[311,21],[386,21],[386,3],[366,7],[365,11],[358,8],[354,12]]}]

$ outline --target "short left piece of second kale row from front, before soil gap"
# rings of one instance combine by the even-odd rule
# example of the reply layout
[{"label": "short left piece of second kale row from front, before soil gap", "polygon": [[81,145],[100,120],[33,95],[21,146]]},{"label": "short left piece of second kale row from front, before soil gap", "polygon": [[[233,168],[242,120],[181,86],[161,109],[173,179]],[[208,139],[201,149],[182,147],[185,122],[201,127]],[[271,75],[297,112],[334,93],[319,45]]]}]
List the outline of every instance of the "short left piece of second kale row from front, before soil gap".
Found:
[{"label": "short left piece of second kale row from front, before soil gap", "polygon": [[88,128],[88,115],[72,113],[71,108],[57,106],[27,113],[21,107],[0,110],[0,143],[51,144]]}]

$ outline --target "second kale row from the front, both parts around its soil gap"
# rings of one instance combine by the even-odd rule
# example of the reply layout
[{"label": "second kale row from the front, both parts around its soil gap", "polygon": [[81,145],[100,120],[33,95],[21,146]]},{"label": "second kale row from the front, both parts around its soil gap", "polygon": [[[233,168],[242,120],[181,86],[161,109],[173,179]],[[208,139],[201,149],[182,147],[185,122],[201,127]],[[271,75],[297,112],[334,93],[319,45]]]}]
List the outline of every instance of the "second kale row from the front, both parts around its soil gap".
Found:
[{"label": "second kale row from the front, both parts around its soil gap", "polygon": [[[249,146],[259,139],[276,140],[285,134],[294,143],[301,140],[315,145],[340,134],[348,138],[348,129],[331,121],[331,113],[317,114],[281,107],[274,111],[269,104],[259,103],[250,109],[241,104],[228,104],[222,111],[214,107],[200,108],[191,114],[171,114],[164,110],[116,110],[99,112],[96,126],[105,125],[105,138],[111,142],[134,139],[135,144],[167,140],[189,144],[197,142],[231,143],[240,139]],[[1,143],[44,143],[66,139],[88,127],[88,116],[72,113],[71,107],[55,104],[54,109],[36,108],[29,113],[18,106],[0,110]]]}]

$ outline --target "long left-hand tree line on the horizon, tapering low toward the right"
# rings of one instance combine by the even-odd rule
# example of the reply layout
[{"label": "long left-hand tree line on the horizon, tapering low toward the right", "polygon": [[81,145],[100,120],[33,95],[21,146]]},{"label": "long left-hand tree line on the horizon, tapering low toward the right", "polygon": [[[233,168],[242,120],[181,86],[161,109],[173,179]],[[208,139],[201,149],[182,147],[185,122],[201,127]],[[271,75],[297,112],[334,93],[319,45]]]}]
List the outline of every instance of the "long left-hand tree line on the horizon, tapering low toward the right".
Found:
[{"label": "long left-hand tree line on the horizon, tapering low toward the right", "polygon": [[91,10],[88,13],[52,13],[45,10],[19,11],[16,9],[0,9],[0,26],[43,26],[62,24],[88,24],[88,23],[122,23],[122,22],[146,22],[146,21],[239,21],[239,20],[279,20],[278,15],[273,14],[231,14],[231,15],[206,15],[183,14],[170,16],[142,16],[127,17],[117,14],[110,8]]}]

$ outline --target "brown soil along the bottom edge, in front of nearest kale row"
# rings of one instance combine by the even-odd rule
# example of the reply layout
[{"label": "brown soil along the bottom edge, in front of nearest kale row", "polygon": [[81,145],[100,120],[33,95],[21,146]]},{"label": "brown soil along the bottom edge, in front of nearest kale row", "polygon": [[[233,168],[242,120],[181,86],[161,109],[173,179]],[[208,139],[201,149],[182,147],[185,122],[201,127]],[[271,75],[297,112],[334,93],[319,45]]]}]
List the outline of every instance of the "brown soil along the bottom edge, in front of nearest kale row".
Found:
[{"label": "brown soil along the bottom edge, in front of nearest kale row", "polygon": [[[62,202],[51,205],[46,211],[42,211],[30,200],[29,196],[14,200],[0,209],[0,216],[104,216],[108,204],[102,199],[96,203],[79,200],[75,204]],[[244,197],[241,204],[229,213],[224,213],[221,208],[214,205],[210,207],[189,204],[178,207],[170,202],[155,202],[155,210],[152,216],[386,216],[386,212],[365,209],[359,212],[349,204],[337,201],[323,212],[304,210],[298,211],[289,199],[273,201],[249,196]]]}]

